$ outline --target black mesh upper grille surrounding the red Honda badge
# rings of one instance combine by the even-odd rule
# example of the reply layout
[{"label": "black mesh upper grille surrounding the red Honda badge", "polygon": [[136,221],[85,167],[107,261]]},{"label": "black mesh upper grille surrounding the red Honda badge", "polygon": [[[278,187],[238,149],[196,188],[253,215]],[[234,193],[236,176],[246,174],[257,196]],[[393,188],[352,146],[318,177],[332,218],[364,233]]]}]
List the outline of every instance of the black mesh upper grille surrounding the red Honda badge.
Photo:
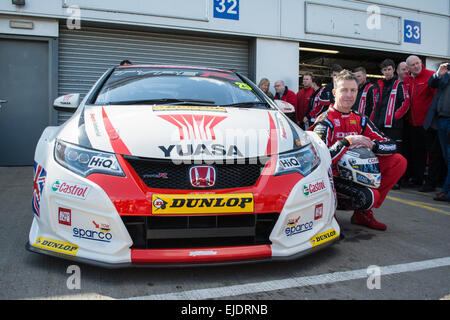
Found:
[{"label": "black mesh upper grille surrounding the red Honda badge", "polygon": [[[134,171],[149,188],[193,190],[189,178],[189,169],[194,164],[176,164],[167,160],[155,160],[137,157],[125,157]],[[251,187],[258,181],[264,163],[243,160],[243,163],[213,164],[216,170],[215,184],[212,187],[202,188],[229,189]],[[201,164],[195,164],[201,165]]]}]

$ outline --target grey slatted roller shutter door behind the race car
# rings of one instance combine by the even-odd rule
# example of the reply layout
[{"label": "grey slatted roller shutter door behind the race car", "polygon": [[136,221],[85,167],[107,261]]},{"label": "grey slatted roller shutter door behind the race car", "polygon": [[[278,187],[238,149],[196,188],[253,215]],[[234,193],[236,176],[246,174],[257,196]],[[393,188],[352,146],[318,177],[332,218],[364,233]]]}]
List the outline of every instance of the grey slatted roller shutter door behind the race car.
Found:
[{"label": "grey slatted roller shutter door behind the race car", "polygon": [[[181,64],[234,69],[248,75],[248,41],[83,27],[60,27],[59,95],[86,94],[110,67],[124,59],[134,64]],[[60,112],[58,124],[70,114]]]}]

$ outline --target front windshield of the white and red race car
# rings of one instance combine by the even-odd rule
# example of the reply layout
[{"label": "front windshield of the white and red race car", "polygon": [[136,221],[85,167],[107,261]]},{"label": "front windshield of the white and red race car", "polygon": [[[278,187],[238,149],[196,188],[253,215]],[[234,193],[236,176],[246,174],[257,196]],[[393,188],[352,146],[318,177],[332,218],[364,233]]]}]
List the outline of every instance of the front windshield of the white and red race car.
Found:
[{"label": "front windshield of the white and red race car", "polygon": [[167,67],[116,68],[95,104],[188,104],[267,108],[239,76],[228,71]]}]

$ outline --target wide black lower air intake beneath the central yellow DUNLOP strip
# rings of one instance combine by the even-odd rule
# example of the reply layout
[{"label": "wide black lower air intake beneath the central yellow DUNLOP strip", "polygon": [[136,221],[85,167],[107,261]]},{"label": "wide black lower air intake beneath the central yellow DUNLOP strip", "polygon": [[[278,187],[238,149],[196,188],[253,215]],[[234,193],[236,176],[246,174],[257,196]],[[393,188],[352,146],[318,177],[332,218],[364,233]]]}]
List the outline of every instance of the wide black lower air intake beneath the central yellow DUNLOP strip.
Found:
[{"label": "wide black lower air intake beneath the central yellow DUNLOP strip", "polygon": [[122,216],[132,249],[178,249],[271,244],[278,213],[210,216]]}]

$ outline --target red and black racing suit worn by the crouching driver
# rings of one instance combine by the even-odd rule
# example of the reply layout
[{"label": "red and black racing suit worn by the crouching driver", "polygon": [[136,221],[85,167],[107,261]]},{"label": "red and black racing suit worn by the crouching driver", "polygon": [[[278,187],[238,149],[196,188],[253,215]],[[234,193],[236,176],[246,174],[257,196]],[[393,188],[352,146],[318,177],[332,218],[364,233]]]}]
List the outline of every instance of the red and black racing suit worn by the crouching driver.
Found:
[{"label": "red and black racing suit worn by the crouching driver", "polygon": [[[395,141],[380,132],[367,116],[355,111],[345,114],[336,110],[333,105],[318,118],[310,130],[317,133],[330,150],[336,192],[343,196],[338,200],[338,208],[370,211],[372,215],[371,209],[382,205],[388,192],[406,170],[406,159],[396,153]],[[336,163],[350,147],[352,135],[366,136],[374,144],[372,151],[378,156],[381,172],[381,184],[378,189],[338,177]],[[352,222],[353,220],[352,217]]]}]

